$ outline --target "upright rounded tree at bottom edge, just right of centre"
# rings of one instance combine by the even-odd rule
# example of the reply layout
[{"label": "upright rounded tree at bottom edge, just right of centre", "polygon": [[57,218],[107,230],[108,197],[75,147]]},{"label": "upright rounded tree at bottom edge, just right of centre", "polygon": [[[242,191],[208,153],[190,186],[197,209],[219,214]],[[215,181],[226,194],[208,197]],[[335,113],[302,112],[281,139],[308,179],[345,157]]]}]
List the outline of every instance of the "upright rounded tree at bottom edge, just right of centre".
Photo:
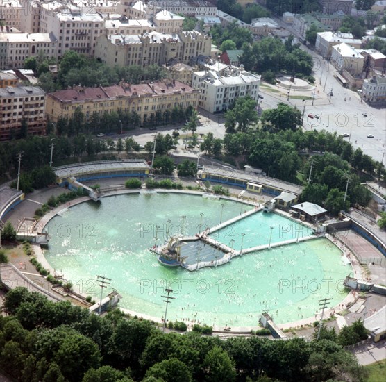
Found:
[{"label": "upright rounded tree at bottom edge, just right of centre", "polygon": [[236,379],[233,360],[220,347],[214,347],[208,351],[203,367],[206,370],[205,381],[235,381]]}]

